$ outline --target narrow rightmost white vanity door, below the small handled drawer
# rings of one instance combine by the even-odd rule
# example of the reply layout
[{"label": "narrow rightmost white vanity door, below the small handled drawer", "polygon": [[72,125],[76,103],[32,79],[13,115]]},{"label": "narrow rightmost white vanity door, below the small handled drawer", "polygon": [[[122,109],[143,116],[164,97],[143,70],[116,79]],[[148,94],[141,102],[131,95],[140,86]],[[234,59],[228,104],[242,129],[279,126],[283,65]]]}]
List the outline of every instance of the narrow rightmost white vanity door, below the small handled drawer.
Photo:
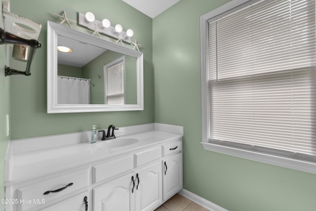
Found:
[{"label": "narrow rightmost white vanity door, below the small handled drawer", "polygon": [[182,187],[182,153],[162,161],[163,200],[179,192]]}]

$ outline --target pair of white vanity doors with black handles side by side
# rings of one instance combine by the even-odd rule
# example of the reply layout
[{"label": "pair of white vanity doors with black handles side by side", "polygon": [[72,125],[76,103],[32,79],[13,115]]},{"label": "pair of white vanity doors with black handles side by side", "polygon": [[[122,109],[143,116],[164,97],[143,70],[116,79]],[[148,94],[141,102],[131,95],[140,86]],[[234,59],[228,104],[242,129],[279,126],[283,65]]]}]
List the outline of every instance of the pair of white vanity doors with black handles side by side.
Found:
[{"label": "pair of white vanity doors with black handles side by side", "polygon": [[160,162],[93,189],[94,211],[151,211],[161,203]]}]

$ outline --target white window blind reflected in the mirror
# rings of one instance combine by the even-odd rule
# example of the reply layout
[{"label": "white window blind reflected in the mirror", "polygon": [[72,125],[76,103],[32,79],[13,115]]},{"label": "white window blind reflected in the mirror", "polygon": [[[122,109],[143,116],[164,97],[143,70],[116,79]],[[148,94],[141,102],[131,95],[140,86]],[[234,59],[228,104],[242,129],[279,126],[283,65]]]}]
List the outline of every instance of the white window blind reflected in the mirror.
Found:
[{"label": "white window blind reflected in the mirror", "polygon": [[124,60],[107,68],[107,104],[125,103]]}]

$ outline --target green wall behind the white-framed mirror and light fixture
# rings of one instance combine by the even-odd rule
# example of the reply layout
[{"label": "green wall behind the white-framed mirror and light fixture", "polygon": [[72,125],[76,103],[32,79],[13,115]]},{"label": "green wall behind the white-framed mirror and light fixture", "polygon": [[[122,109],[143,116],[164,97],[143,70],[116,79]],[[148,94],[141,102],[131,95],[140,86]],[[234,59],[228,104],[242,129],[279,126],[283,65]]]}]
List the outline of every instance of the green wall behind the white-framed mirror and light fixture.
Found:
[{"label": "green wall behind the white-framed mirror and light fixture", "polygon": [[[11,139],[90,130],[92,125],[107,128],[154,122],[154,90],[152,68],[152,19],[121,0],[10,0],[11,12],[42,25],[30,77],[11,76]],[[40,8],[40,9],[39,9]],[[46,110],[46,36],[47,20],[60,22],[52,13],[66,11],[67,17],[77,20],[78,12],[91,11],[96,19],[108,18],[111,25],[121,24],[126,31],[133,29],[132,41],[142,44],[144,53],[144,111],[47,114]],[[66,26],[66,25],[65,25]],[[77,24],[73,28],[92,32]],[[108,40],[106,36],[104,39]],[[132,45],[125,44],[132,47]]]}]

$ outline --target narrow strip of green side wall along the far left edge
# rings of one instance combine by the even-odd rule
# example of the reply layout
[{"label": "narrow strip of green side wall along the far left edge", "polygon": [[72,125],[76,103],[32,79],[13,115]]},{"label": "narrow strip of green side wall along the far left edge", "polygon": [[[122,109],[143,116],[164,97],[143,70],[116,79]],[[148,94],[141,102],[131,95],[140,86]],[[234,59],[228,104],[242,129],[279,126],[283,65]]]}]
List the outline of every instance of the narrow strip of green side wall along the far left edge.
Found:
[{"label": "narrow strip of green side wall along the far left edge", "polygon": [[[2,5],[2,4],[0,4]],[[2,14],[2,6],[0,7]],[[3,19],[0,15],[0,28],[3,29]],[[4,76],[4,64],[6,64],[5,45],[0,44],[0,199],[4,199],[4,158],[10,136],[6,135],[6,115],[10,114],[9,108],[9,77]],[[4,210],[4,205],[0,204],[0,211]]]}]

